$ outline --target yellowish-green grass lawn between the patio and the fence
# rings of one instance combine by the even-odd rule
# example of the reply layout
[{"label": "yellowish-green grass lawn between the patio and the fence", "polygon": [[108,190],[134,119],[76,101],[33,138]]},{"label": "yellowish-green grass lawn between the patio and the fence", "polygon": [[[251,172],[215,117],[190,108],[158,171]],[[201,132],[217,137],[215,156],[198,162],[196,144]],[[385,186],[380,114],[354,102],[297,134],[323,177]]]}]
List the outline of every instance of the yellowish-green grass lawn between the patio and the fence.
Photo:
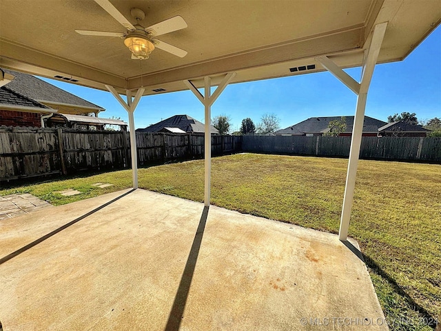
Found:
[{"label": "yellowish-green grass lawn between the patio and the fence", "polygon": [[[212,161],[212,204],[338,232],[347,159],[236,154]],[[131,186],[130,170],[21,185],[69,203]],[[92,183],[112,183],[96,188]],[[203,160],[139,170],[139,186],[203,201]],[[63,197],[56,191],[82,192]],[[441,312],[441,165],[360,161],[349,235],[358,240],[391,330],[431,330]]]}]

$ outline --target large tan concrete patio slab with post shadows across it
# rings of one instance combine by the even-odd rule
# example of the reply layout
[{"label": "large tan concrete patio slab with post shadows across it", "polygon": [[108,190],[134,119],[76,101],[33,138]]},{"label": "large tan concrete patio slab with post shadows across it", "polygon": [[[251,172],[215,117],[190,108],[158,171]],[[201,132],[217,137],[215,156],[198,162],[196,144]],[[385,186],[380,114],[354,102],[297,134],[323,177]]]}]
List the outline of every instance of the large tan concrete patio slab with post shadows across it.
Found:
[{"label": "large tan concrete patio slab with post shadows across it", "polygon": [[3,330],[387,330],[356,242],[127,192],[0,222]]}]

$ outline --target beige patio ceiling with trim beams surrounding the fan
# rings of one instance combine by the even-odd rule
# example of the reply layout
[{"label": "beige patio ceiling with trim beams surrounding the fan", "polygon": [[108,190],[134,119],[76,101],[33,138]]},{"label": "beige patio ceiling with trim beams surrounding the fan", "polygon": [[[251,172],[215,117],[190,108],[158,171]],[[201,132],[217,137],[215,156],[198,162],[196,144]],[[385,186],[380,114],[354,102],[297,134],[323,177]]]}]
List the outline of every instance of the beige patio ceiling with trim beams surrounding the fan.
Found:
[{"label": "beige patio ceiling with trim beams surrounding the fan", "polygon": [[[150,59],[132,60],[122,39],[77,34],[125,32],[93,0],[0,0],[0,67],[101,90],[107,84],[120,93],[144,86],[144,95],[156,94],[185,90],[186,79],[201,87],[212,76],[216,84],[216,75],[227,72],[236,72],[236,83],[322,71],[315,58],[324,55],[343,68],[360,66],[374,24],[385,21],[378,62],[400,61],[441,20],[438,0],[110,1],[132,23],[131,8],[145,11],[143,26],[181,15],[188,28],[160,39],[187,56],[156,49]],[[158,88],[164,91],[153,91]]]}]

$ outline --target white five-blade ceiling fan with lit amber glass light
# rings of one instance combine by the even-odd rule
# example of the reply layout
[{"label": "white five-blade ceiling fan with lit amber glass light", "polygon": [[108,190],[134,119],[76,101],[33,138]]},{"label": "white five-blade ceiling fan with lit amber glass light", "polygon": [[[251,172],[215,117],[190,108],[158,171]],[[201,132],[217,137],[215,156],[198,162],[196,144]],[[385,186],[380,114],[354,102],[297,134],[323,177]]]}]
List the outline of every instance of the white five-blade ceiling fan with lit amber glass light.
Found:
[{"label": "white five-blade ceiling fan with lit amber glass light", "polygon": [[109,0],[94,0],[99,4],[106,12],[108,12],[116,21],[119,21],[127,32],[105,32],[105,31],[90,31],[90,30],[75,30],[79,34],[85,36],[102,36],[102,37],[120,37],[124,39],[124,44],[132,52],[132,59],[145,60],[149,58],[150,53],[155,49],[165,50],[177,57],[185,57],[187,52],[177,48],[176,46],[165,43],[154,37],[187,28],[187,23],[181,16],[175,16],[171,19],[166,19],[160,23],[156,23],[153,26],[144,28],[139,23],[145,17],[144,12],[139,8],[132,8],[130,14],[136,19],[136,24],[133,25],[127,20],[119,10],[117,10]]}]

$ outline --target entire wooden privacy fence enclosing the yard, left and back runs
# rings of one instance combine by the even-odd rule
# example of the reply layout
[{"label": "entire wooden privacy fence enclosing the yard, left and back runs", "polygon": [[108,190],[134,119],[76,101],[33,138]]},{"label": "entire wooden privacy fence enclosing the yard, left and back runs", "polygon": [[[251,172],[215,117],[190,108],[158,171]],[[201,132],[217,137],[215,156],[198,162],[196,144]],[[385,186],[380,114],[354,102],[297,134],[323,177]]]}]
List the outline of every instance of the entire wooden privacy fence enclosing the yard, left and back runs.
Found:
[{"label": "entire wooden privacy fence enclosing the yard, left and back runs", "polygon": [[[212,154],[348,157],[351,137],[212,136]],[[203,134],[136,133],[139,165],[203,157]],[[362,159],[441,163],[441,138],[363,137]],[[0,181],[85,169],[130,168],[127,132],[0,128]]]}]

